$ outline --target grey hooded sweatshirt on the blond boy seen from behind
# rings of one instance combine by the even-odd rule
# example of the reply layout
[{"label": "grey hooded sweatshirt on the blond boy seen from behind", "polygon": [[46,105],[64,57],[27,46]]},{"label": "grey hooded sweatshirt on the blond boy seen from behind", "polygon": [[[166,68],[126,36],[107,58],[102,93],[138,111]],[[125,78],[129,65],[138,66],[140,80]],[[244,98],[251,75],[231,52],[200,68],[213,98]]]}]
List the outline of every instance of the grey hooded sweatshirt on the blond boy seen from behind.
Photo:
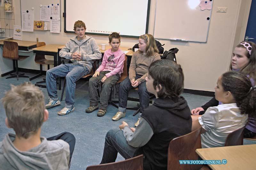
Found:
[{"label": "grey hooded sweatshirt on the blond boy seen from behind", "polygon": [[28,150],[15,148],[14,134],[7,134],[0,142],[0,169],[68,169],[69,144],[61,139],[47,141],[41,137],[41,144]]}]

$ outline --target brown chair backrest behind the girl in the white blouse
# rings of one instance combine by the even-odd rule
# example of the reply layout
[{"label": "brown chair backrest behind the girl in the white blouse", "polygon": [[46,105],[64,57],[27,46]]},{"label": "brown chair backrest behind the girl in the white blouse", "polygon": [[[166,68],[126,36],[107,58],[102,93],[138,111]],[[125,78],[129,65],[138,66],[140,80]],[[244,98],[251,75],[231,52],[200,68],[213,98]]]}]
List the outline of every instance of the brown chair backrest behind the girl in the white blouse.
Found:
[{"label": "brown chair backrest behind the girl in the white blouse", "polygon": [[244,128],[245,128],[245,126],[229,133],[228,137],[226,139],[226,142],[225,142],[225,146],[243,145]]}]

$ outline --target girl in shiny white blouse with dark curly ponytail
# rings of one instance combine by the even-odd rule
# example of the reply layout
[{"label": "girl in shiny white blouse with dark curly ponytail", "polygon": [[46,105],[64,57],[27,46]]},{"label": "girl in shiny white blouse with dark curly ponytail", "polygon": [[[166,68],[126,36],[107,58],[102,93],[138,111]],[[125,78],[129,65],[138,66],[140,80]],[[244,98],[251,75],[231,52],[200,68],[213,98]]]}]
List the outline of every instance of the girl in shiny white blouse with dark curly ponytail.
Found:
[{"label": "girl in shiny white blouse with dark curly ponytail", "polygon": [[224,146],[232,131],[256,114],[256,86],[241,72],[228,71],[218,78],[215,98],[223,104],[209,107],[204,115],[192,115],[192,131],[202,126],[202,148]]}]

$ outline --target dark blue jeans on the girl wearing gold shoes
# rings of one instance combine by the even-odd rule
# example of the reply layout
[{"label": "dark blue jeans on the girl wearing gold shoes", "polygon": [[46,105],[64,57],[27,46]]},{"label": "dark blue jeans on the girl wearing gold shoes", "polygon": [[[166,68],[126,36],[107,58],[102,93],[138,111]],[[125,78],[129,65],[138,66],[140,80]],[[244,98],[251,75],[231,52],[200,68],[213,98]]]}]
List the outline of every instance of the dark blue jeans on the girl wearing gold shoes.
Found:
[{"label": "dark blue jeans on the girl wearing gold shoes", "polygon": [[[136,74],[135,80],[141,78],[141,75]],[[149,92],[146,87],[146,81],[140,83],[138,87],[139,99],[140,99],[140,115],[144,111],[145,108],[149,106]],[[128,100],[128,92],[133,89],[129,77],[126,77],[119,86],[119,112],[126,112],[127,100]],[[140,116],[139,115],[139,116]]]}]

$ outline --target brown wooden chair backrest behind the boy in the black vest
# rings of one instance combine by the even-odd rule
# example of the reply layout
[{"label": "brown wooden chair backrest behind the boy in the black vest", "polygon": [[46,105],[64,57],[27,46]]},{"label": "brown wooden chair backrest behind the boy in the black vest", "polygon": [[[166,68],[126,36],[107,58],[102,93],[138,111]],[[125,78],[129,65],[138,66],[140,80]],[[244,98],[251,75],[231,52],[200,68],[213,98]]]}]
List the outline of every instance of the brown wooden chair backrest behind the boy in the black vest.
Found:
[{"label": "brown wooden chair backrest behind the boy in the black vest", "polygon": [[201,127],[171,140],[168,148],[167,169],[200,169],[202,165],[180,164],[179,160],[198,160],[196,149],[201,148]]}]

